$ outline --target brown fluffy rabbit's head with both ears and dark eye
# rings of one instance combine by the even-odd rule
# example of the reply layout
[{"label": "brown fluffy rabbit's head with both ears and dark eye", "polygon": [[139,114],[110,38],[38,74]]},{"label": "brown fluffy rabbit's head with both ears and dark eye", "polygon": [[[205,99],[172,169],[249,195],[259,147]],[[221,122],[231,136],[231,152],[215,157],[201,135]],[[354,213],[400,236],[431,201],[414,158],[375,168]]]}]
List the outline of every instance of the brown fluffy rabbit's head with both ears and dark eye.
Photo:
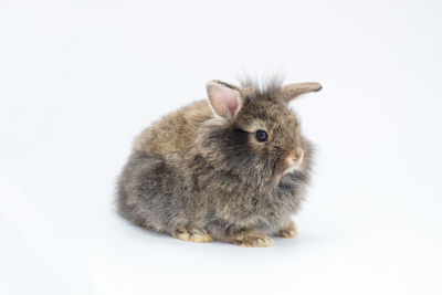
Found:
[{"label": "brown fluffy rabbit's head with both ears and dark eye", "polygon": [[210,81],[207,92],[214,118],[203,128],[200,147],[218,168],[257,181],[307,169],[311,144],[288,103],[320,88],[318,83],[274,82],[260,88],[252,82],[239,87]]}]

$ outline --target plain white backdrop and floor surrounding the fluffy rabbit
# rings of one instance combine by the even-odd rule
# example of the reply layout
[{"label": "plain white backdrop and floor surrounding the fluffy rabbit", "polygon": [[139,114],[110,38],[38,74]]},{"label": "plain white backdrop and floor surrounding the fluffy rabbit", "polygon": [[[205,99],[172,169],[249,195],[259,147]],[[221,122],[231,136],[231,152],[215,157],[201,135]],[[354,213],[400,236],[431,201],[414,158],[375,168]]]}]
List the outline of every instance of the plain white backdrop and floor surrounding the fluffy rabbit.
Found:
[{"label": "plain white backdrop and floor surrounding the fluffy rabbit", "polygon": [[[442,294],[440,1],[0,2],[1,294]],[[296,239],[114,212],[131,140],[212,78],[318,81]]]}]

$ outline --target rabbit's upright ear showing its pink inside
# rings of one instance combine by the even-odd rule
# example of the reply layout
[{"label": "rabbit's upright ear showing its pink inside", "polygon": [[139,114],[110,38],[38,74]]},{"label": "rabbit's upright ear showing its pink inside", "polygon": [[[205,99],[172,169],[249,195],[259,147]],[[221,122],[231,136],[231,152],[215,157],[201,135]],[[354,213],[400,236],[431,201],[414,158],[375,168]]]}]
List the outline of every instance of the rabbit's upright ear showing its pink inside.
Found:
[{"label": "rabbit's upright ear showing its pink inside", "polygon": [[242,107],[240,88],[214,80],[206,87],[213,113],[225,119],[234,118]]}]

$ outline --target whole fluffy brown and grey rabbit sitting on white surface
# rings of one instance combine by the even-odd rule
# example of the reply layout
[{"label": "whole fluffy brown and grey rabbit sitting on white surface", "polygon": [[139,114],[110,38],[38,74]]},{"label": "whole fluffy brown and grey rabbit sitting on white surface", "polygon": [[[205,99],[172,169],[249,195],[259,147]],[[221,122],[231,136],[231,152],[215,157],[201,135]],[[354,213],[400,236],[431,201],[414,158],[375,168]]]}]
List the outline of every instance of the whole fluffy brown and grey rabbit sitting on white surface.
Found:
[{"label": "whole fluffy brown and grey rabbit sitting on white surface", "polygon": [[208,99],[166,115],[135,138],[117,210],[191,242],[272,246],[297,234],[291,215],[309,182],[313,144],[288,103],[319,83],[207,84]]}]

